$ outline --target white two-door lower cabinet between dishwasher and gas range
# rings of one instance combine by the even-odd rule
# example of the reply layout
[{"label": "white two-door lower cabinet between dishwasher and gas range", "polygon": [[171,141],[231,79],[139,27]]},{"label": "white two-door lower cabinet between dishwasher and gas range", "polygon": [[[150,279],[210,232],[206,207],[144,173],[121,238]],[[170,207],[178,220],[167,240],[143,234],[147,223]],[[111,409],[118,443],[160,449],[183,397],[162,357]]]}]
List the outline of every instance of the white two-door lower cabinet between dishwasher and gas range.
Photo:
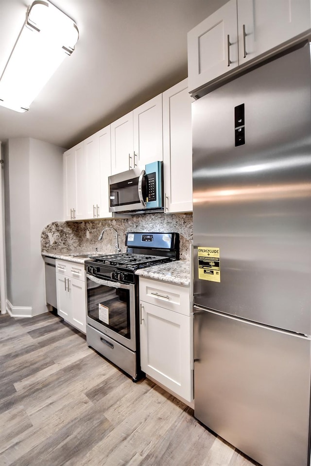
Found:
[{"label": "white two-door lower cabinet between dishwasher and gas range", "polygon": [[86,286],[84,265],[56,260],[57,313],[86,333]]}]

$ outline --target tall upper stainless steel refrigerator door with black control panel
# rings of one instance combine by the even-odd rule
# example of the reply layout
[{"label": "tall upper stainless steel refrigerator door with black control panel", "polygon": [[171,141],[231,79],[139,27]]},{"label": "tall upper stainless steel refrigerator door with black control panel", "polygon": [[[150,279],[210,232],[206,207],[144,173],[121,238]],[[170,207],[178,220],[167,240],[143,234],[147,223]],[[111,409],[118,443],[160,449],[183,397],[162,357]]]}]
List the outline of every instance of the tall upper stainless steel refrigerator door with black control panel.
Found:
[{"label": "tall upper stainless steel refrigerator door with black control panel", "polygon": [[308,45],[192,104],[193,243],[220,250],[220,281],[194,255],[194,302],[308,335],[310,69]]}]

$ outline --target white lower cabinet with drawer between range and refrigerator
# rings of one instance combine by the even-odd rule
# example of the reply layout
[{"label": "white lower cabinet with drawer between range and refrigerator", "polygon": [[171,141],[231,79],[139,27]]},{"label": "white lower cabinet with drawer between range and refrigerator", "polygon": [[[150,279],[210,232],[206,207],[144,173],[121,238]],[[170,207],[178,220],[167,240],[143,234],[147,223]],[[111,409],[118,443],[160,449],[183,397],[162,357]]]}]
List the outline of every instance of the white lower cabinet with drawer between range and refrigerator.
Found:
[{"label": "white lower cabinet with drawer between range and refrigerator", "polygon": [[141,369],[176,396],[191,402],[189,288],[140,277],[139,299]]}]

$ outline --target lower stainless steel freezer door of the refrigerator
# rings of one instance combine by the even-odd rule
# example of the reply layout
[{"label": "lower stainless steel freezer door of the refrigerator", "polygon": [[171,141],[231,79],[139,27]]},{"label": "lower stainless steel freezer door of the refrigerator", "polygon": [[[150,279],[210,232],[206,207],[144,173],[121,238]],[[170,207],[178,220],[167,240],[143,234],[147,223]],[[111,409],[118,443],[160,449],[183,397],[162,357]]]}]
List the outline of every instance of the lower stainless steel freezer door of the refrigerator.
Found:
[{"label": "lower stainless steel freezer door of the refrigerator", "polygon": [[195,417],[264,466],[309,465],[310,343],[225,314],[195,314]]}]

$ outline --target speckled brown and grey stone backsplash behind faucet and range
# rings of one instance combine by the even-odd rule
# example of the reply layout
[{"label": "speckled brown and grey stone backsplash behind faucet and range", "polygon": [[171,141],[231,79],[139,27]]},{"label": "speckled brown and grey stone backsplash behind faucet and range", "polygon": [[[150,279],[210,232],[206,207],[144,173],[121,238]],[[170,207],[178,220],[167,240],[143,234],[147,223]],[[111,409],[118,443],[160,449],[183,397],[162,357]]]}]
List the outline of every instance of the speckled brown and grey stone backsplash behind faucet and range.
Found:
[{"label": "speckled brown and grey stone backsplash behind faucet and range", "polygon": [[146,214],[134,215],[129,219],[53,222],[41,233],[41,251],[51,254],[94,253],[97,248],[100,253],[113,254],[116,243],[113,230],[105,231],[103,240],[98,241],[106,226],[113,226],[118,231],[121,252],[126,251],[125,234],[129,231],[177,232],[180,238],[180,259],[190,259],[192,214]]}]

